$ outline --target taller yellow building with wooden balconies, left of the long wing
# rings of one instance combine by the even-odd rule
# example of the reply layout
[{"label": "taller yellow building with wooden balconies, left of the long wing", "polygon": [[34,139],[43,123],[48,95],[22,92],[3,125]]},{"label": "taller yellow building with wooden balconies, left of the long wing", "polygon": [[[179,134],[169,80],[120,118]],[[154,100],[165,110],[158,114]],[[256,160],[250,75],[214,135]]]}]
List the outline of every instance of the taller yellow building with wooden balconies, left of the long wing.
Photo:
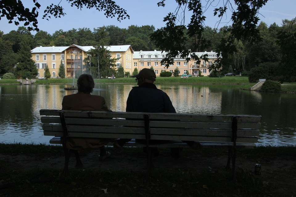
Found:
[{"label": "taller yellow building with wooden balconies, left of the long wing", "polygon": [[[32,59],[35,60],[38,68],[38,76],[45,76],[45,68],[48,66],[51,78],[56,78],[59,73],[60,63],[65,66],[67,78],[72,78],[75,71],[84,69],[84,58],[86,53],[93,46],[78,46],[72,44],[69,47],[36,47],[31,50]],[[111,51],[112,58],[117,58],[116,68],[122,66],[125,72],[132,73],[133,49],[130,45],[108,46],[107,50]]]}]

